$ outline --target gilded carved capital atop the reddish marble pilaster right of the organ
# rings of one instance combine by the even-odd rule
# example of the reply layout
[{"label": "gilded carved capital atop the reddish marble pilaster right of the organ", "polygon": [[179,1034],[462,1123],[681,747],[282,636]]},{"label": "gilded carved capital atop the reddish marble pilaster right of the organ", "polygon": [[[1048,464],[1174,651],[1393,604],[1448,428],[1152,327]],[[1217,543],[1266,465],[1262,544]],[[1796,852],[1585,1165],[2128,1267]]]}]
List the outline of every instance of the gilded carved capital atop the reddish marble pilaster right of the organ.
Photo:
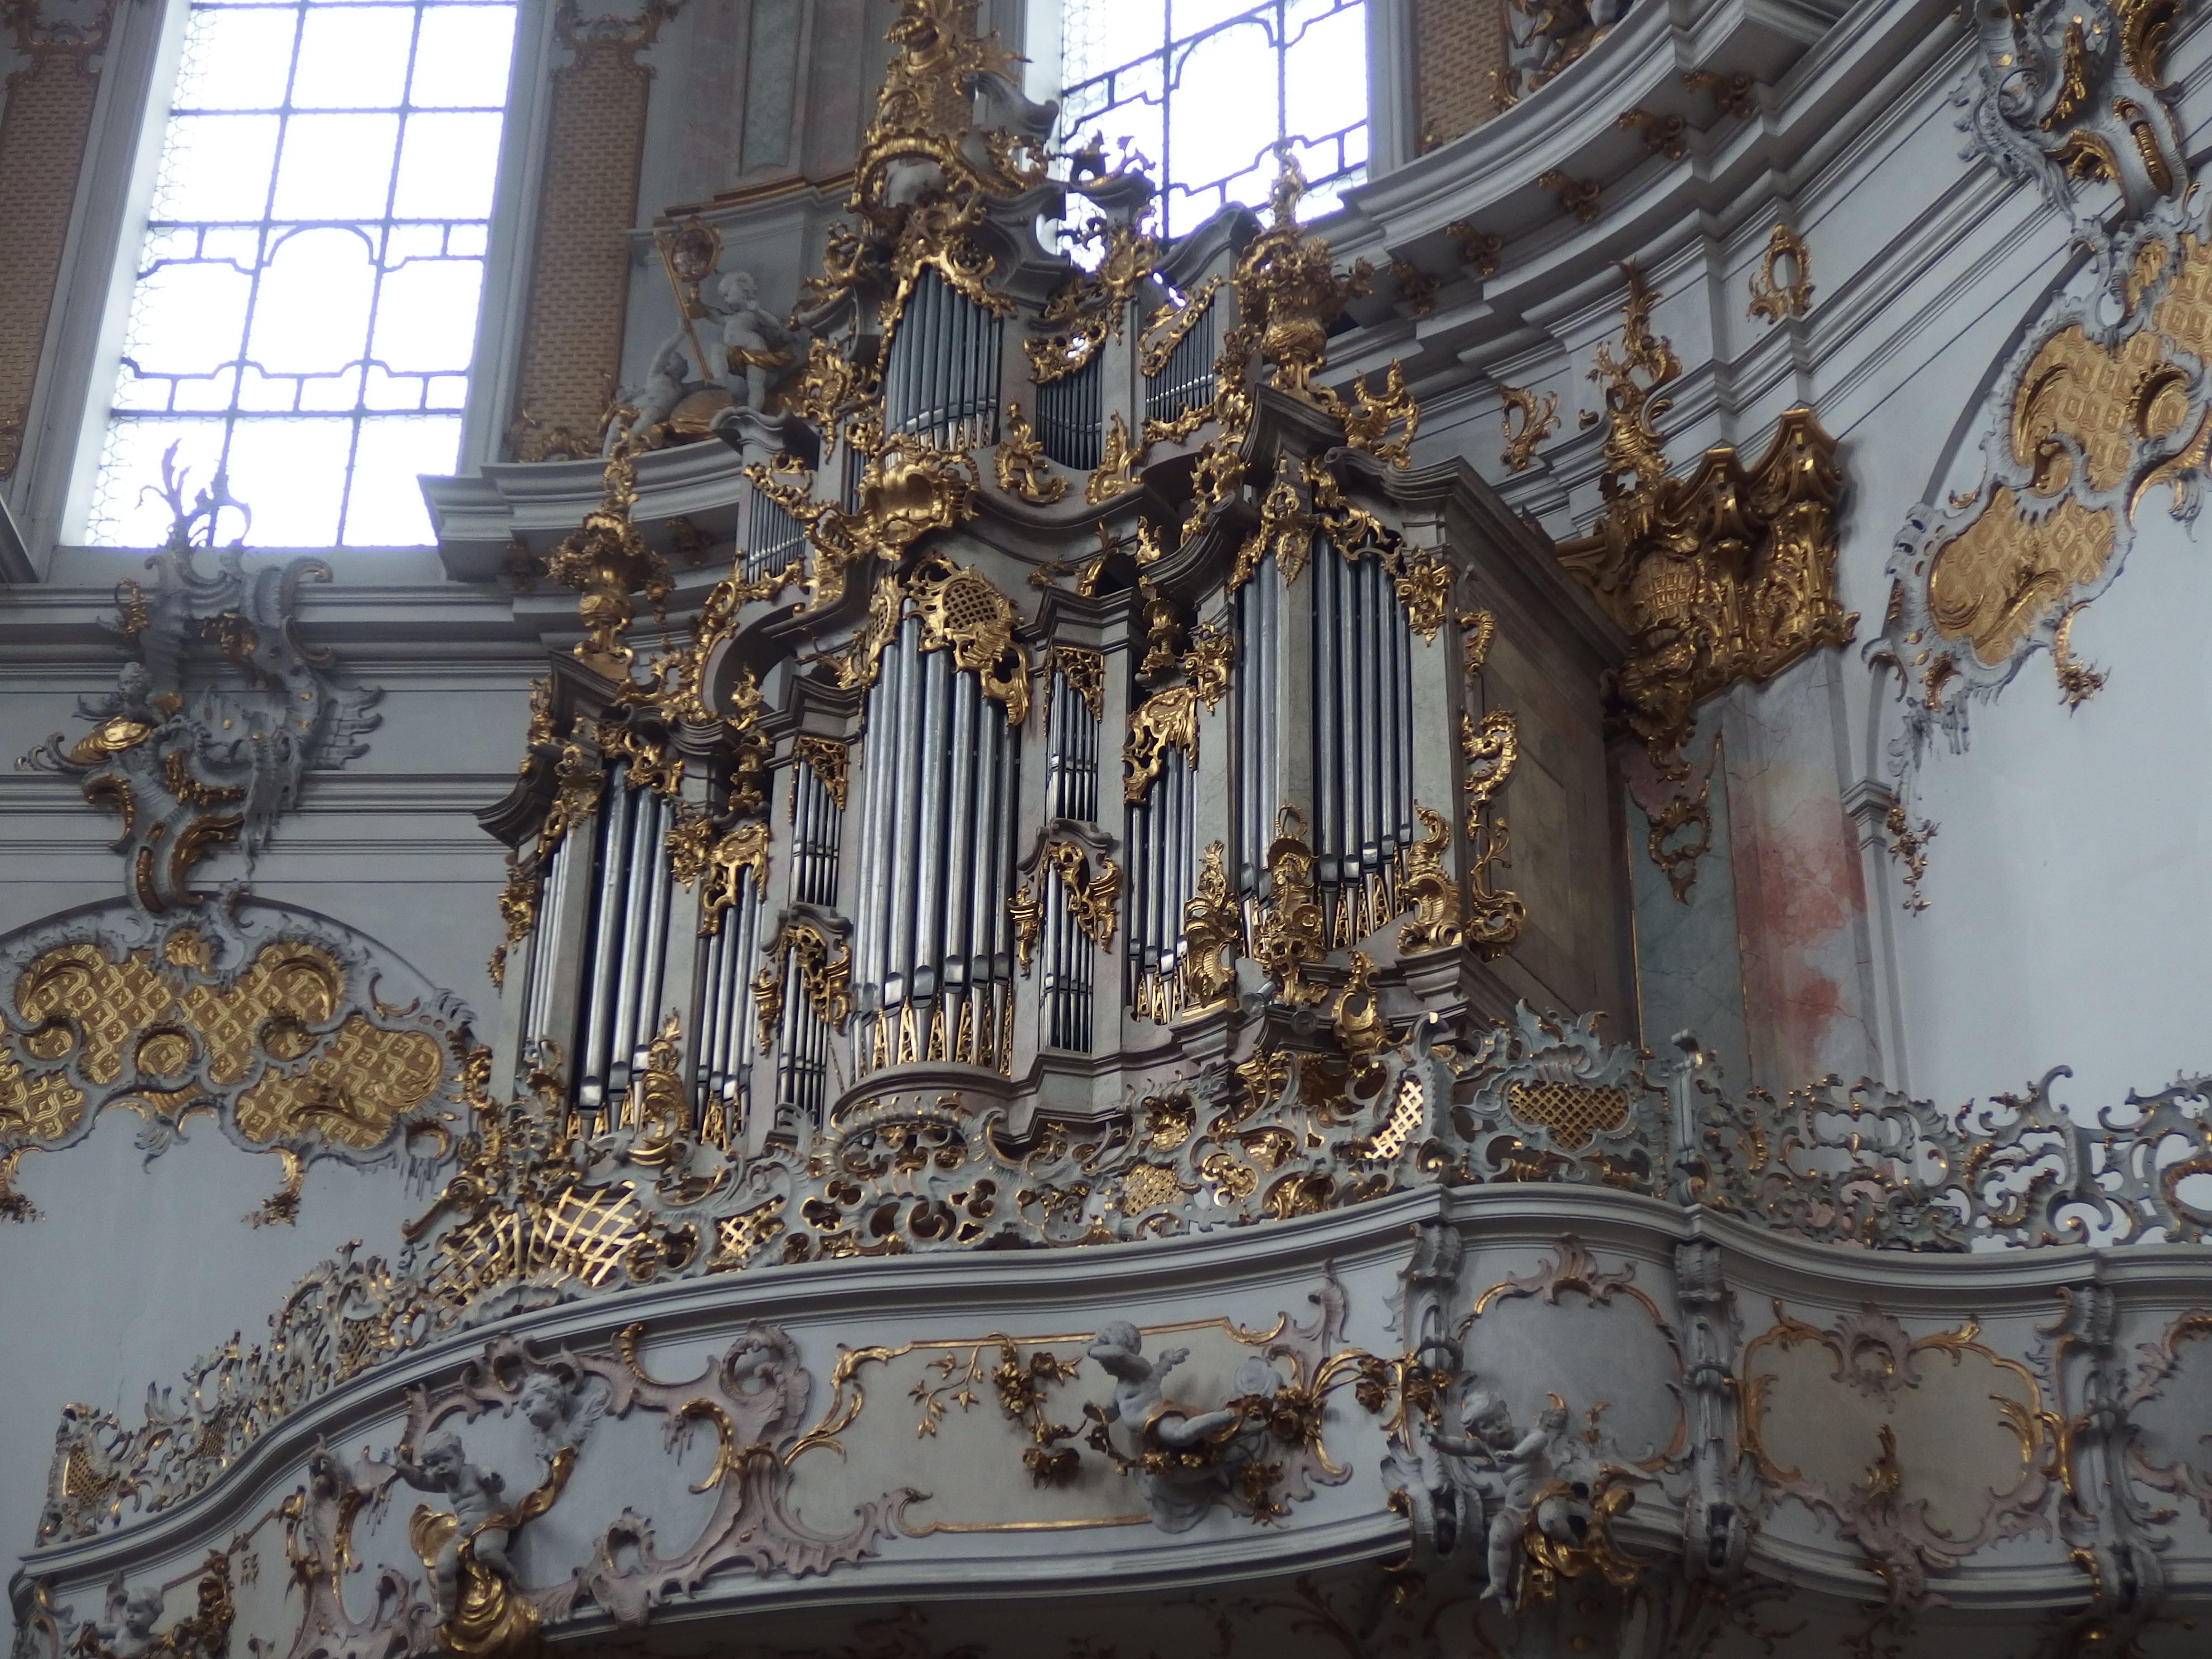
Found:
[{"label": "gilded carved capital atop the reddish marble pilaster right of the organ", "polygon": [[1621,354],[1599,345],[1590,372],[1606,387],[1606,509],[1559,560],[1630,635],[1613,686],[1617,719],[1661,774],[1683,776],[1699,701],[1847,644],[1858,617],[1836,602],[1836,440],[1809,409],[1785,411],[1750,469],[1719,445],[1688,478],[1672,473],[1657,422],[1681,361],[1652,334],[1657,301],[1628,268]]}]

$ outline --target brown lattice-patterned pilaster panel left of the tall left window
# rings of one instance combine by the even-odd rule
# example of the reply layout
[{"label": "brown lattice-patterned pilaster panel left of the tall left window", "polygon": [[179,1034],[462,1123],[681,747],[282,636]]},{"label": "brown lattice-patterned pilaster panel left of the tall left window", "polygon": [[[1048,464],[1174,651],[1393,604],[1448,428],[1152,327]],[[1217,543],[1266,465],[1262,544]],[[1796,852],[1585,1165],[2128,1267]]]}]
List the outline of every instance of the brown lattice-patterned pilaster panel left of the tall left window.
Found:
[{"label": "brown lattice-patterned pilaster panel left of the tall left window", "polygon": [[[24,35],[29,29],[20,24]],[[62,46],[24,40],[31,62],[9,75],[0,108],[0,478],[22,458],[38,349],[93,131],[93,53],[106,29],[100,35]]]}]

